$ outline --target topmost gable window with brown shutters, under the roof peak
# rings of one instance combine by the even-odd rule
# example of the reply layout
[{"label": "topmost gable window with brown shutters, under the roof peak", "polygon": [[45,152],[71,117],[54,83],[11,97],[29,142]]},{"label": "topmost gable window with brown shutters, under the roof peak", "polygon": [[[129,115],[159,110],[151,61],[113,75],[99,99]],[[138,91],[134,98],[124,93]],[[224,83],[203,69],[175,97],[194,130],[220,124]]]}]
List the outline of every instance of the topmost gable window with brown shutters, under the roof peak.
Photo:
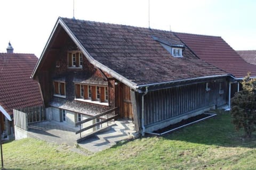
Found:
[{"label": "topmost gable window with brown shutters, under the roof peak", "polygon": [[68,52],[68,67],[82,68],[83,65],[83,53],[79,51]]}]

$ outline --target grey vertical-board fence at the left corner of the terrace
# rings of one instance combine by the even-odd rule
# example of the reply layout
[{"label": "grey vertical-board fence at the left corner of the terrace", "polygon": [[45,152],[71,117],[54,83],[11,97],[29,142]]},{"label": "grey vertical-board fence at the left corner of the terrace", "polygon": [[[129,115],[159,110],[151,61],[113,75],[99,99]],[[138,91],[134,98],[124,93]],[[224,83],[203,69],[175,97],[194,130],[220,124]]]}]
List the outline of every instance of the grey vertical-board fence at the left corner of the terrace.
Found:
[{"label": "grey vertical-board fence at the left corner of the terrace", "polygon": [[14,125],[23,130],[28,130],[28,124],[45,120],[45,108],[43,106],[13,109]]}]

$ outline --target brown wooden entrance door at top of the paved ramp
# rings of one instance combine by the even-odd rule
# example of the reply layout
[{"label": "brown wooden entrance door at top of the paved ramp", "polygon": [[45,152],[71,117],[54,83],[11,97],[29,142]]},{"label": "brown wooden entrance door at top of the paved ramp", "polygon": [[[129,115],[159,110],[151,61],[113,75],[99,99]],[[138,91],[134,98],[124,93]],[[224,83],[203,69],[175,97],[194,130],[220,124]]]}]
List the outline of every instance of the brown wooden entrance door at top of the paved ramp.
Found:
[{"label": "brown wooden entrance door at top of the paved ramp", "polygon": [[130,88],[122,83],[119,84],[119,88],[120,116],[132,119],[133,113]]}]

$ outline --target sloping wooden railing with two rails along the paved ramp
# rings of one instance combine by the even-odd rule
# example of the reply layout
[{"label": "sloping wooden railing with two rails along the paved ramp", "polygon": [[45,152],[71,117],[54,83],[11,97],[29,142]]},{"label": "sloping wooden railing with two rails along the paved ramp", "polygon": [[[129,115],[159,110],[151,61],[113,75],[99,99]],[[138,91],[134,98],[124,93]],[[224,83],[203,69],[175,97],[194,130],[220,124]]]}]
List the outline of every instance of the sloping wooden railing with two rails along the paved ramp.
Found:
[{"label": "sloping wooden railing with two rails along the paved ramp", "polygon": [[95,126],[99,126],[99,125],[101,125],[101,124],[103,124],[103,123],[106,123],[106,122],[108,122],[108,121],[110,121],[110,120],[113,120],[113,119],[117,118],[117,117],[119,116],[118,114],[116,114],[116,115],[114,115],[114,116],[111,116],[111,117],[107,118],[106,120],[103,120],[103,121],[101,121],[101,122],[92,124],[92,125],[90,125],[90,126],[87,126],[86,128],[81,129],[81,125],[82,125],[83,123],[89,122],[89,121],[94,120],[95,118],[98,118],[98,117],[101,117],[101,116],[105,116],[105,115],[107,115],[107,114],[109,114],[109,113],[112,113],[112,112],[115,112],[115,111],[117,111],[117,110],[118,110],[118,107],[115,107],[115,108],[109,109],[108,111],[103,112],[103,113],[101,113],[101,114],[99,114],[99,115],[92,116],[92,117],[90,117],[90,118],[87,118],[86,120],[77,122],[77,123],[76,123],[76,126],[79,125],[79,126],[80,126],[80,130],[77,131],[76,134],[80,133],[80,138],[81,138],[81,132],[86,131],[86,130],[89,130],[89,129],[91,129],[91,128],[94,128]]}]

